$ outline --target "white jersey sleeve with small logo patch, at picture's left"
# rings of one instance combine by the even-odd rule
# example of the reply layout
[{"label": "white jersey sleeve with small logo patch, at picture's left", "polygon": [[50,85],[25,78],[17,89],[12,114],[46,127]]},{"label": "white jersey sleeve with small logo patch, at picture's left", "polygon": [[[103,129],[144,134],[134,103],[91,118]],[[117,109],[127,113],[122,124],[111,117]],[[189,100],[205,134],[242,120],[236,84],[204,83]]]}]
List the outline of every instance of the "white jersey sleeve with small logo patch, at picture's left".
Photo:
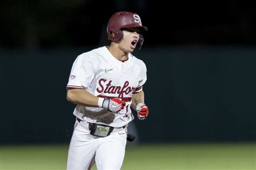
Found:
[{"label": "white jersey sleeve with small logo patch, at picture's left", "polygon": [[90,56],[79,55],[72,65],[66,89],[87,89],[96,74],[97,62]]}]

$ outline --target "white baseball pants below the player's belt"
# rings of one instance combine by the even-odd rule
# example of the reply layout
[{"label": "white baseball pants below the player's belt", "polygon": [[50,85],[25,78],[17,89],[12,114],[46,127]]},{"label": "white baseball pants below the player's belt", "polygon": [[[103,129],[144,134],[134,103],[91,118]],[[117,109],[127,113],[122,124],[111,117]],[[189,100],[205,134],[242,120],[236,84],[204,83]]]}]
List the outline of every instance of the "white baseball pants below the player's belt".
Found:
[{"label": "white baseball pants below the player's belt", "polygon": [[127,129],[114,129],[104,138],[90,134],[86,121],[76,120],[68,152],[68,170],[120,169],[125,155]]}]

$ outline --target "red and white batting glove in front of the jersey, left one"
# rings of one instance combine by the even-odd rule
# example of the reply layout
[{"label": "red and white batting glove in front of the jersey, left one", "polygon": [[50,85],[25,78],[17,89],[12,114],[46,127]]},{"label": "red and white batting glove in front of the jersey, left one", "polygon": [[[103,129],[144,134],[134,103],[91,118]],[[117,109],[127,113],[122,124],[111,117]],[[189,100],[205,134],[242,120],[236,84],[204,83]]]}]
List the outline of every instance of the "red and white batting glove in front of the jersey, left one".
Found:
[{"label": "red and white batting glove in front of the jersey, left one", "polygon": [[106,108],[110,112],[118,113],[120,110],[124,109],[126,103],[118,98],[99,98],[98,105],[99,107]]}]

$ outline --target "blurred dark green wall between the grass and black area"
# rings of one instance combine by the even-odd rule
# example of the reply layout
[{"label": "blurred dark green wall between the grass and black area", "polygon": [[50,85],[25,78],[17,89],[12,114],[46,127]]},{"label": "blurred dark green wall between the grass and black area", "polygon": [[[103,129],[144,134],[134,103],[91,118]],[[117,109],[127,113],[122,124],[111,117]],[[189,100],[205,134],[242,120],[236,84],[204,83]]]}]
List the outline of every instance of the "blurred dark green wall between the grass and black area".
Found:
[{"label": "blurred dark green wall between the grass and black area", "polygon": [[[69,142],[75,104],[66,84],[93,49],[0,50],[1,143]],[[256,47],[143,47],[147,120],[140,141],[255,141]],[[136,117],[136,113],[134,113]]]}]

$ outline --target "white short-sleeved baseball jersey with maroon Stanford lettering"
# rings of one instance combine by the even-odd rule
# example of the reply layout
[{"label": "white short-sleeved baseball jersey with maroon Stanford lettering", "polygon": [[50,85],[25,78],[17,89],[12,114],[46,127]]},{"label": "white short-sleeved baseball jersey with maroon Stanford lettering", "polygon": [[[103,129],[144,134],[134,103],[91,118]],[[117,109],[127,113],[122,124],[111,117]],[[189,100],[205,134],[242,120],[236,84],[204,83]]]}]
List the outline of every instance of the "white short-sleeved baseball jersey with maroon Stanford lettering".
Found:
[{"label": "white short-sleeved baseball jersey with maroon Stanford lettering", "polygon": [[146,65],[131,53],[125,62],[114,58],[106,46],[82,53],[73,63],[67,88],[85,89],[102,98],[117,97],[126,106],[119,113],[112,113],[105,108],[77,105],[73,114],[89,123],[125,126],[134,119],[132,94],[142,91],[146,79]]}]

